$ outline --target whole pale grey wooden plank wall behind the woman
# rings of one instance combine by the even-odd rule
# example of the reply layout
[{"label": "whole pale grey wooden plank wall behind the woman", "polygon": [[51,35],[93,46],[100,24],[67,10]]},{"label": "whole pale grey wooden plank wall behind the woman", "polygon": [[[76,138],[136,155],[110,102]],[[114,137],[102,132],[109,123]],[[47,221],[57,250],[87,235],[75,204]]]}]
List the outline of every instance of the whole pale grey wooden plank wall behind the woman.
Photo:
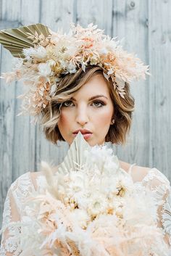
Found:
[{"label": "whole pale grey wooden plank wall behind the woman", "polygon": [[[151,77],[133,83],[133,125],[126,146],[116,146],[120,160],[156,167],[171,180],[171,1],[169,0],[0,0],[0,29],[42,22],[51,30],[69,30],[70,22],[93,22],[110,36],[125,38],[123,47],[151,67]],[[12,69],[1,47],[0,72]],[[62,161],[68,146],[52,145],[30,117],[16,117],[20,83],[0,80],[0,220],[12,181],[38,170],[41,160]]]}]

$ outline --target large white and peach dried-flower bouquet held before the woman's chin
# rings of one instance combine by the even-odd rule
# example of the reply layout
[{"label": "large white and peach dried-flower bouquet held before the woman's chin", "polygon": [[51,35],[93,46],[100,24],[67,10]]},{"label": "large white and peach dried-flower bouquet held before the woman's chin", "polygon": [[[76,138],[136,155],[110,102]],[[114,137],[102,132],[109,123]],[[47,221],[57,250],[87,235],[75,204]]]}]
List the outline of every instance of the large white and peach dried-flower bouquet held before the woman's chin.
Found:
[{"label": "large white and peach dried-flower bouquet held before the woman's chin", "polygon": [[107,145],[75,137],[61,165],[25,202],[20,256],[164,256],[159,203],[120,168]]}]

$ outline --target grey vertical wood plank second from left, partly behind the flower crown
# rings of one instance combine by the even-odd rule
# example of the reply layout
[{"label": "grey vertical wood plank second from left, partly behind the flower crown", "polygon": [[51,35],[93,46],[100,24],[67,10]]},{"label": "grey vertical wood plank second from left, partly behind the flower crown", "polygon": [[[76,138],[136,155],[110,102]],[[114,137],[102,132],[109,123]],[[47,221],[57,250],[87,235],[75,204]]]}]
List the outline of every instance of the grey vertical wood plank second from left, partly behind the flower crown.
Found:
[{"label": "grey vertical wood plank second from left, partly behind the flower crown", "polygon": [[[33,8],[34,7],[34,8]],[[40,1],[20,2],[20,25],[30,25],[39,22]],[[18,12],[18,9],[17,9]],[[29,14],[29,15],[28,15]],[[36,127],[30,124],[29,116],[16,115],[20,112],[21,99],[16,96],[25,92],[25,86],[21,82],[17,83],[15,93],[15,126],[13,141],[13,176],[15,180],[22,173],[34,171],[36,166]]]}]

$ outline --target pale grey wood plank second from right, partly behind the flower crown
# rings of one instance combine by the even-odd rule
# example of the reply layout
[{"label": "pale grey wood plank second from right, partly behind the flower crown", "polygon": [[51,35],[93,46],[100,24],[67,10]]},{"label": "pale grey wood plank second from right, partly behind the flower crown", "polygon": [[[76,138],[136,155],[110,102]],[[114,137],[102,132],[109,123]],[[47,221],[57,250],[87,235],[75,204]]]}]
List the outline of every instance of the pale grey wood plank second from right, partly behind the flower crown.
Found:
[{"label": "pale grey wood plank second from right, partly behind the flower crown", "polygon": [[[148,64],[147,1],[114,0],[113,36],[124,38],[124,49],[136,53]],[[117,146],[117,154],[125,162],[149,164],[149,78],[130,85],[135,98],[133,123],[126,146]],[[144,154],[144,149],[146,154]]]}]

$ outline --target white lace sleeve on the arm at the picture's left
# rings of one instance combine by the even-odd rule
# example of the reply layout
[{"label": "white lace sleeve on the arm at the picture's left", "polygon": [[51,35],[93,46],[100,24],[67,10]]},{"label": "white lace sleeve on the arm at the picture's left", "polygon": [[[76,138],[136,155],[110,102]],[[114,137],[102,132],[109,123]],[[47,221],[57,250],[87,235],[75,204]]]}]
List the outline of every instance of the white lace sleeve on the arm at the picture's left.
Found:
[{"label": "white lace sleeve on the arm at the picture's left", "polygon": [[20,220],[24,215],[22,202],[27,197],[28,191],[33,189],[29,174],[30,172],[17,178],[7,192],[1,228],[0,256],[18,256],[22,252],[19,240]]}]

